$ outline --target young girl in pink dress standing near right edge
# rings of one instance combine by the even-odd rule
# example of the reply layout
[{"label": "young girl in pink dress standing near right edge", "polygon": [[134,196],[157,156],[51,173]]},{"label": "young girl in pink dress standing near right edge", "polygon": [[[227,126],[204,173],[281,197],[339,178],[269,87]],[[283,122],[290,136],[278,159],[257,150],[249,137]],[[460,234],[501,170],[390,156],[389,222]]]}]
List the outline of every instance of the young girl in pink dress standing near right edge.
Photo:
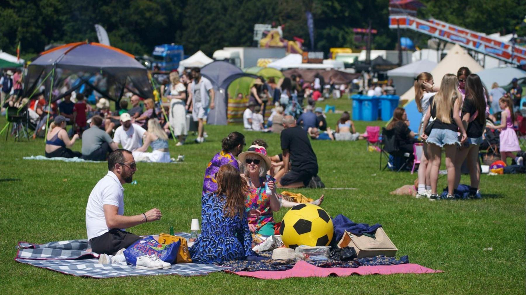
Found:
[{"label": "young girl in pink dress standing near right edge", "polygon": [[511,157],[515,159],[518,165],[522,165],[522,157],[513,156],[513,152],[519,152],[521,147],[519,145],[519,139],[517,138],[517,133],[513,130],[513,121],[515,116],[513,114],[513,101],[511,98],[506,95],[499,99],[499,106],[502,109],[500,125],[488,125],[491,129],[501,129],[500,130],[500,159],[506,163],[506,159]]}]

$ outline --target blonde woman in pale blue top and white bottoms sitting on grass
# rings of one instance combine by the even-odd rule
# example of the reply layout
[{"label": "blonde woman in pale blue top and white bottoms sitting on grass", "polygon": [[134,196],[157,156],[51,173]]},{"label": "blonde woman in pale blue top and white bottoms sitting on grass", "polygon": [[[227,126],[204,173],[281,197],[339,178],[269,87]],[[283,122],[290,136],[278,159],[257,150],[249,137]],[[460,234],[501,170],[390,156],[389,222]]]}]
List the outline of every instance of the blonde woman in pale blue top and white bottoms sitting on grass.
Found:
[{"label": "blonde woman in pale blue top and white bottoms sitting on grass", "polygon": [[[150,145],[153,151],[147,153]],[[157,118],[148,120],[148,133],[143,146],[134,151],[134,157],[136,162],[168,163],[171,161],[168,151],[168,136]]]}]

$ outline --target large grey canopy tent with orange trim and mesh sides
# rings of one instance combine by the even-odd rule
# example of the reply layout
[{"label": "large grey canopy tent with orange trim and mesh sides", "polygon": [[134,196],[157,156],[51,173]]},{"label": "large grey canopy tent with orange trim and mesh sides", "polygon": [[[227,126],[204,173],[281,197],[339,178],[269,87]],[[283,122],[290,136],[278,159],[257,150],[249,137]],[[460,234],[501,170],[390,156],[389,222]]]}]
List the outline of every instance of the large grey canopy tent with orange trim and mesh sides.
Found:
[{"label": "large grey canopy tent with orange trim and mesh sides", "polygon": [[[54,74],[49,75],[53,69]],[[27,68],[24,96],[31,95],[41,82],[47,89],[46,100],[53,82],[52,102],[73,91],[86,97],[97,91],[100,97],[114,101],[120,100],[125,89],[143,98],[153,97],[146,68],[128,52],[99,43],[70,43],[42,52]]]}]

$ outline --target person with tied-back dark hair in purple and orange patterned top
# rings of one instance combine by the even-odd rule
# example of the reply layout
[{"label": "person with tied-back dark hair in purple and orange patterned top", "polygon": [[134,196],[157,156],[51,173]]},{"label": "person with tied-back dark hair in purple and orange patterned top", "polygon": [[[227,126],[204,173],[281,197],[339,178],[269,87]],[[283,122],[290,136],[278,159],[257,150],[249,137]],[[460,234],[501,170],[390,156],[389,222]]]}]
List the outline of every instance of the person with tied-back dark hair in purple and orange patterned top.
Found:
[{"label": "person with tied-back dark hair in purple and orange patterned top", "polygon": [[222,165],[230,164],[239,170],[236,156],[241,153],[245,146],[245,135],[239,132],[228,134],[221,142],[222,150],[217,153],[205,170],[205,180],[203,181],[203,196],[207,193],[215,192],[217,189],[216,173]]}]

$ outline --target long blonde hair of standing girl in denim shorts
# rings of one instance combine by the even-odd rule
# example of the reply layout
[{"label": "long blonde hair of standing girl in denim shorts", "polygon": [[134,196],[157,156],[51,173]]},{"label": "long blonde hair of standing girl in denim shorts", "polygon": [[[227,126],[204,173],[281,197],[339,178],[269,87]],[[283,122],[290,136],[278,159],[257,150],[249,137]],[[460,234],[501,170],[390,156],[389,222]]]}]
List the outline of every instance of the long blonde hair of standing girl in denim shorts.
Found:
[{"label": "long blonde hair of standing girl in denim shorts", "polygon": [[[442,123],[450,124],[453,121],[451,113],[453,106],[461,94],[458,90],[458,79],[453,74],[446,74],[440,83],[440,89],[433,99],[433,106],[437,109],[437,119]],[[431,106],[431,107],[433,107]]]}]

